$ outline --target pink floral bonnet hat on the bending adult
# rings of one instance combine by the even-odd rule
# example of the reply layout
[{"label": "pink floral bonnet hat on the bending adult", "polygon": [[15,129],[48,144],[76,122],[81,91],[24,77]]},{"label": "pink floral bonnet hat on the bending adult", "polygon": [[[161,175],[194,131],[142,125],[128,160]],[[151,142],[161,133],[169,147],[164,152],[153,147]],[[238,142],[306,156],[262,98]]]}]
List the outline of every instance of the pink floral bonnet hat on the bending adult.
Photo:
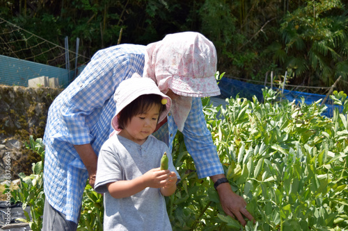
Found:
[{"label": "pink floral bonnet hat on the bending adult", "polygon": [[168,88],[180,96],[221,94],[216,83],[216,49],[196,32],[166,35],[146,46],[143,77],[152,78],[161,92]]}]

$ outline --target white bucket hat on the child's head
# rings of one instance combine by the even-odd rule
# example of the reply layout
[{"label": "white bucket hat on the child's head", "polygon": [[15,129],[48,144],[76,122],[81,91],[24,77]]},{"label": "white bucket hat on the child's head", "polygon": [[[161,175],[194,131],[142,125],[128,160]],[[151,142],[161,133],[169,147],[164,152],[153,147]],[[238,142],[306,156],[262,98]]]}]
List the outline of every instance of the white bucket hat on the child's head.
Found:
[{"label": "white bucket hat on the child's head", "polygon": [[123,80],[113,94],[113,101],[116,103],[116,114],[111,120],[113,129],[120,131],[120,128],[118,128],[118,113],[129,105],[129,103],[132,103],[132,101],[144,94],[158,94],[163,99],[166,99],[166,110],[160,114],[158,123],[166,118],[169,110],[171,110],[171,98],[159,91],[159,88],[152,79],[142,78],[139,74],[134,73],[132,78]]}]

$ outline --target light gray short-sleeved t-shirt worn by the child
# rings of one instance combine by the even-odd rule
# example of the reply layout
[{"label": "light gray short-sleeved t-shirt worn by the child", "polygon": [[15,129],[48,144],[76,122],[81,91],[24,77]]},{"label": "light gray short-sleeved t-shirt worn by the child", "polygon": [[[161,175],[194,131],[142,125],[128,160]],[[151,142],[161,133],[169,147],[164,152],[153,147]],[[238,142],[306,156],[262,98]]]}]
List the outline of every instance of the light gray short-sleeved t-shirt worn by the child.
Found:
[{"label": "light gray short-sleeved t-shirt worn by the child", "polygon": [[159,189],[147,187],[127,198],[113,198],[106,188],[109,182],[132,180],[160,166],[167,152],[169,170],[177,173],[169,148],[152,135],[144,144],[136,144],[113,135],[102,146],[98,157],[95,191],[104,193],[104,230],[172,230],[166,201]]}]

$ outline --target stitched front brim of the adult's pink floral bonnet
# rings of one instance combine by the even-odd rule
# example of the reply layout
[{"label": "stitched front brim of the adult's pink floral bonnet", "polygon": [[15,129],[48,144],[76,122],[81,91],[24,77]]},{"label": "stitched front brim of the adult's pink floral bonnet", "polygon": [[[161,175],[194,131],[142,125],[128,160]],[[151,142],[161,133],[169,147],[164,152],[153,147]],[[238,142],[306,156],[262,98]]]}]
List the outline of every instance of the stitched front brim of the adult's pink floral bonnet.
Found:
[{"label": "stitched front brim of the adult's pink floral bonnet", "polygon": [[215,76],[205,78],[173,76],[169,88],[180,96],[209,97],[221,94]]}]

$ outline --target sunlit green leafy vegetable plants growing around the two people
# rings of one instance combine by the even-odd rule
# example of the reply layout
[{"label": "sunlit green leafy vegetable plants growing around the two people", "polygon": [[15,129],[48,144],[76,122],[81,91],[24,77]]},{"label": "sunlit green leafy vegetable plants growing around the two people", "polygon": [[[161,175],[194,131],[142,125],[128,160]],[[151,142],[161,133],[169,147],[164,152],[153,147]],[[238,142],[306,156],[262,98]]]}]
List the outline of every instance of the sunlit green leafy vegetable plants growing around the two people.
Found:
[{"label": "sunlit green leafy vegetable plants growing around the two people", "polygon": [[[166,198],[173,230],[348,230],[348,99],[330,96],[343,110],[322,116],[320,101],[306,105],[280,100],[263,90],[264,101],[226,99],[214,107],[203,99],[207,126],[232,190],[244,197],[255,218],[242,227],[226,216],[212,181],[198,179],[178,132],[173,161],[182,178]],[[28,148],[44,157],[41,139]],[[43,161],[21,174],[13,201],[31,206],[31,227],[40,230],[45,194]],[[84,191],[79,230],[102,230],[103,201],[89,185]],[[29,221],[29,214],[27,220]]]}]

